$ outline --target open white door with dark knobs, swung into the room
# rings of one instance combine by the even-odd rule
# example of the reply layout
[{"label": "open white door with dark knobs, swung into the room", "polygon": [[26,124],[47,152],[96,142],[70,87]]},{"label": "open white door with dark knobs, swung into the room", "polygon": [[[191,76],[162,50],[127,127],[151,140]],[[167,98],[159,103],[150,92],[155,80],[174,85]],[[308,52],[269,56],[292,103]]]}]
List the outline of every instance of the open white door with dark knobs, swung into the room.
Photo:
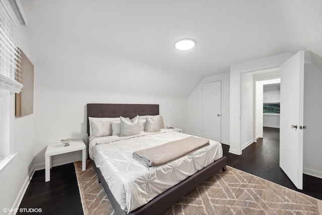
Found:
[{"label": "open white door with dark knobs, swung into the room", "polygon": [[281,66],[280,167],[298,189],[303,186],[304,51]]}]

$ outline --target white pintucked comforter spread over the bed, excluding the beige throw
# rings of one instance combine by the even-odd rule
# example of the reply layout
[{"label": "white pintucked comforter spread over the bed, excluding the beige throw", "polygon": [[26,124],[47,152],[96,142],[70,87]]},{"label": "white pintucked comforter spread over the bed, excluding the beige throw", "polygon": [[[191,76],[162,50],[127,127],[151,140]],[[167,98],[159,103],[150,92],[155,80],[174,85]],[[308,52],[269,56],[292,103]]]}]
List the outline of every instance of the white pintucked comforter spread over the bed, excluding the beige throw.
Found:
[{"label": "white pintucked comforter spread over the bed, excluding the beige throw", "polygon": [[122,209],[130,212],[222,157],[221,144],[210,140],[210,145],[160,166],[147,167],[132,158],[134,151],[188,136],[162,129],[156,133],[141,133],[125,138],[98,137],[91,139],[89,153],[116,201]]}]

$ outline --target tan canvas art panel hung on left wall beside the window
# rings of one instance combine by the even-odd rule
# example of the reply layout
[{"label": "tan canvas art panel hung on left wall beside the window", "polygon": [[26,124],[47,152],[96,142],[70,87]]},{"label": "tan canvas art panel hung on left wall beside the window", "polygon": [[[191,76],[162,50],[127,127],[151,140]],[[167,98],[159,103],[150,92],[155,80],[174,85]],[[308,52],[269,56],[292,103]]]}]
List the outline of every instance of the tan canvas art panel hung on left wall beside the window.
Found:
[{"label": "tan canvas art panel hung on left wall beside the window", "polygon": [[[34,112],[34,65],[20,49],[21,83],[24,85],[20,93],[16,93],[16,117],[26,116]],[[19,63],[17,63],[19,66]]]}]

